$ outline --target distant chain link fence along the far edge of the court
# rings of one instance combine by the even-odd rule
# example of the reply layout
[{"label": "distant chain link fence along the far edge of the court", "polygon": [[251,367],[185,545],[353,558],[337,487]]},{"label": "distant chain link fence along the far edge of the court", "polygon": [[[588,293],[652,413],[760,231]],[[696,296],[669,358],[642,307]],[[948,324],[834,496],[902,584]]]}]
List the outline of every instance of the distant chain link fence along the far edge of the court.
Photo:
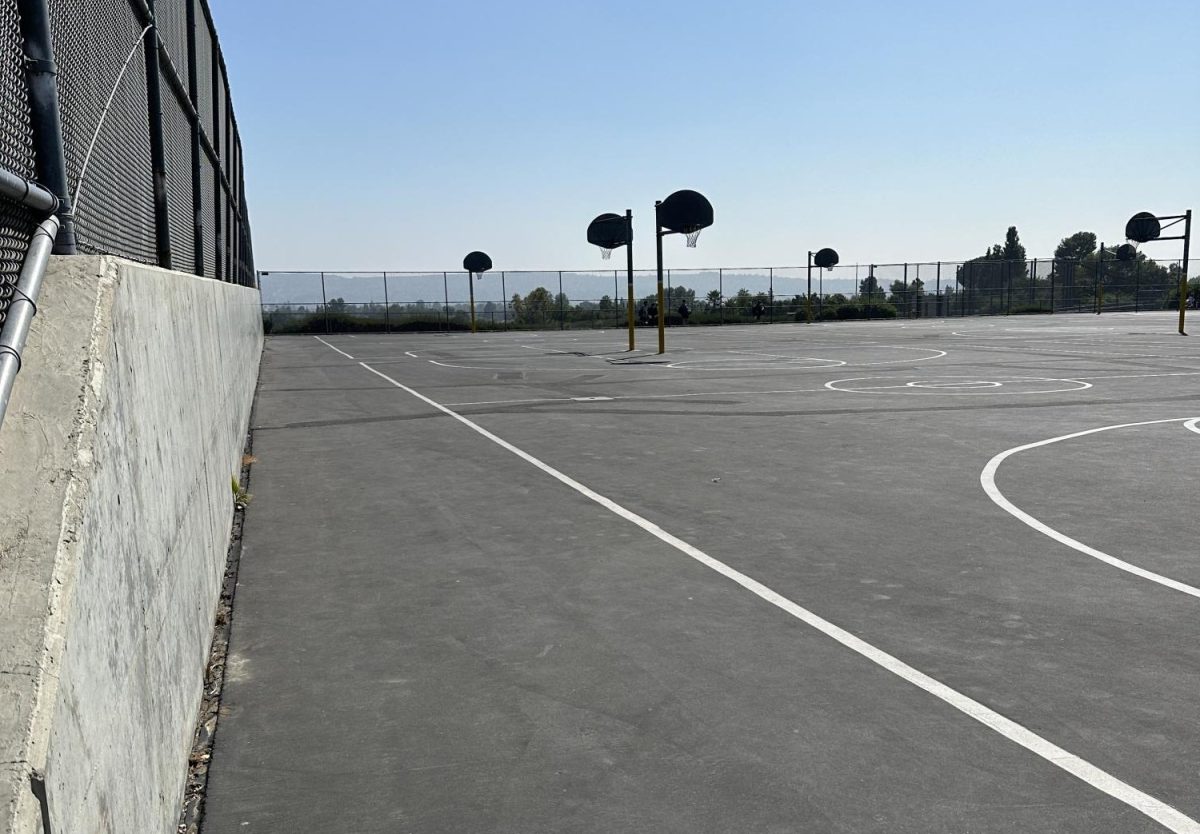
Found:
[{"label": "distant chain link fence along the far edge of the court", "polygon": [[[1178,260],[967,260],[666,270],[671,325],[1148,312],[1178,307]],[[656,323],[656,272],[634,272],[635,320]],[[470,328],[466,272],[262,272],[271,334]],[[1200,304],[1200,277],[1192,278]],[[475,318],[496,330],[624,328],[624,270],[493,271],[475,280]],[[684,322],[682,305],[686,305]]]}]

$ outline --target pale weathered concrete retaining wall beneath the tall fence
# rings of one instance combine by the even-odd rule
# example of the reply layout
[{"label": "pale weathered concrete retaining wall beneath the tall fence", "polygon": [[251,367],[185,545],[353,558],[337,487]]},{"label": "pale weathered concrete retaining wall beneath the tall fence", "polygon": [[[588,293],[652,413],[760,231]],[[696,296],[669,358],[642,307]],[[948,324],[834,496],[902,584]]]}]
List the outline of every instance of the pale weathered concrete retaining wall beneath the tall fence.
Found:
[{"label": "pale weathered concrete retaining wall beneath the tall fence", "polygon": [[55,258],[0,430],[0,834],[174,829],[257,290]]}]

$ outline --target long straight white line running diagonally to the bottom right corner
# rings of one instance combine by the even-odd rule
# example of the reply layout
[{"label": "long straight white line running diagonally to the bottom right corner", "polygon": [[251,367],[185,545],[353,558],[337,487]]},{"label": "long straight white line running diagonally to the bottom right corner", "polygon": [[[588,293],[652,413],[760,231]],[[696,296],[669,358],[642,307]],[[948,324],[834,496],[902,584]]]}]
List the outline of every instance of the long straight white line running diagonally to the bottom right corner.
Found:
[{"label": "long straight white line running diagonally to the bottom right corner", "polygon": [[1050,762],[1057,768],[1061,768],[1062,770],[1066,770],[1076,779],[1087,782],[1096,790],[1109,794],[1114,799],[1124,803],[1126,805],[1140,811],[1141,814],[1145,814],[1147,817],[1158,822],[1168,830],[1175,832],[1176,834],[1200,834],[1200,823],[1198,823],[1195,820],[1188,816],[1184,816],[1183,814],[1175,810],[1174,808],[1162,802],[1160,799],[1156,799],[1148,793],[1139,791],[1134,786],[1121,781],[1120,779],[1108,773],[1106,770],[1102,770],[1091,762],[1087,762],[1080,758],[1079,756],[1074,755],[1073,752],[1069,752],[1063,748],[1060,748],[1057,744],[1046,740],[1042,736],[1038,736],[1032,730],[1021,726],[1020,724],[1013,721],[1012,719],[1004,718],[994,709],[990,709],[984,704],[979,703],[978,701],[966,695],[962,695],[955,689],[950,689],[946,684],[910,666],[899,658],[888,654],[883,649],[876,648],[871,643],[868,643],[866,641],[856,637],[845,629],[841,629],[830,623],[829,620],[818,617],[808,608],[804,608],[803,606],[797,605],[786,596],[772,590],[770,588],[762,584],[757,580],[750,578],[745,574],[734,570],[733,568],[730,568],[724,562],[720,562],[708,556],[698,547],[695,547],[684,541],[683,539],[679,539],[678,536],[667,533],[654,522],[643,518],[632,510],[625,509],[614,500],[611,500],[601,496],[599,492],[594,492],[593,490],[580,484],[569,475],[563,474],[562,472],[550,466],[548,463],[544,463],[542,461],[538,460],[527,451],[523,451],[522,449],[518,449],[508,440],[493,434],[482,426],[472,422],[461,414],[450,410],[445,406],[434,402],[433,400],[430,400],[424,394],[414,391],[403,383],[396,382],[388,374],[376,371],[366,362],[359,362],[359,365],[361,365],[371,373],[382,377],[383,379],[386,379],[396,388],[401,389],[402,391],[406,391],[407,394],[410,394],[421,402],[436,408],[437,410],[442,412],[448,416],[454,418],[462,425],[470,428],[473,432],[476,432],[478,434],[487,438],[488,440],[500,446],[502,449],[512,452],[514,455],[526,461],[527,463],[530,463],[538,469],[541,469],[551,478],[560,481],[571,490],[575,490],[581,496],[595,502],[596,504],[605,508],[613,515],[619,516],[620,518],[624,518],[625,521],[632,524],[636,524],[641,529],[653,535],[655,539],[659,539],[660,541],[670,545],[671,547],[674,547],[680,553],[695,559],[706,568],[709,568],[720,574],[721,576],[732,580],[733,582],[742,586],[743,588],[755,594],[760,599],[790,613],[792,617],[810,625],[811,628],[816,629],[827,637],[835,640],[836,642],[841,643],[850,650],[862,655],[863,658],[870,660],[877,666],[881,666],[888,672],[892,672],[896,677],[907,680],[912,685],[925,690],[934,697],[940,698],[950,707],[954,707],[965,715],[973,718],[976,721],[979,721],[980,724],[995,731],[996,733],[1003,736],[1008,740],[1019,744],[1030,752],[1040,756],[1045,761]]}]

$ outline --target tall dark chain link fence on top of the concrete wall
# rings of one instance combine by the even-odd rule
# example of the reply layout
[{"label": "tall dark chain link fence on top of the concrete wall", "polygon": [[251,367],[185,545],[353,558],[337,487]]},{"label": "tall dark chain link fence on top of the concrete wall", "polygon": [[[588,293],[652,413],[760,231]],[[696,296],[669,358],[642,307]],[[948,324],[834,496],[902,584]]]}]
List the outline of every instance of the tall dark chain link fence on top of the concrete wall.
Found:
[{"label": "tall dark chain link fence on top of the concrete wall", "polygon": [[[32,115],[26,29],[38,6],[60,145]],[[206,0],[0,0],[0,169],[54,191],[46,167],[64,163],[59,196],[80,252],[256,286],[227,74]],[[0,324],[36,223],[0,197]]]}]

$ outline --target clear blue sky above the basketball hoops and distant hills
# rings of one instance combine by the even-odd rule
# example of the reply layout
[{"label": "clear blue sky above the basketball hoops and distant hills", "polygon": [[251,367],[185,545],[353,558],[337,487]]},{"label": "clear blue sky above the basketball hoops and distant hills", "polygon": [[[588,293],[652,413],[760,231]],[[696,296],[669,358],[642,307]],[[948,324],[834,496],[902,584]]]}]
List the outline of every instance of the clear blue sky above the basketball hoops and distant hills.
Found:
[{"label": "clear blue sky above the basketball hoops and distant hills", "polygon": [[1033,257],[1200,208],[1195,0],[211,5],[260,269],[600,266],[587,223],[626,208],[648,268],[677,188],[715,209],[677,268],[950,260],[1010,224]]}]

